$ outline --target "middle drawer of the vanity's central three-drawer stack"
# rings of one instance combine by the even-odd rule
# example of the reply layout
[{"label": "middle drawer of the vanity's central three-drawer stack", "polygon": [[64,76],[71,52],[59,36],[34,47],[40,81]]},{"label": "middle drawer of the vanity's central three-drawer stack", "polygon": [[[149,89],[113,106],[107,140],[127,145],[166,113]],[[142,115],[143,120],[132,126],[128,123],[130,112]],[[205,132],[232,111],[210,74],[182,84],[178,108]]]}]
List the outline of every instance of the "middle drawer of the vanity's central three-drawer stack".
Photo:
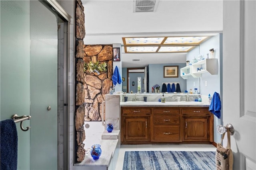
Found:
[{"label": "middle drawer of the vanity's central three-drawer stack", "polygon": [[180,117],[179,115],[154,115],[153,123],[154,125],[179,125]]}]

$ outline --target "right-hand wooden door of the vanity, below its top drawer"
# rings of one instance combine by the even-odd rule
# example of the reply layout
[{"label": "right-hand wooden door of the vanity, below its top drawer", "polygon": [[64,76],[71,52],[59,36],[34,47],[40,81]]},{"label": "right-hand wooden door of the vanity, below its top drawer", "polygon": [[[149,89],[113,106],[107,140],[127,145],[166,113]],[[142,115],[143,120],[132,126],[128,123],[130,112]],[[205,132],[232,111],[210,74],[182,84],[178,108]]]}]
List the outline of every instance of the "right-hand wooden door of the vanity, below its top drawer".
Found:
[{"label": "right-hand wooden door of the vanity, below its top drawer", "polygon": [[185,141],[208,141],[208,116],[184,117]]}]

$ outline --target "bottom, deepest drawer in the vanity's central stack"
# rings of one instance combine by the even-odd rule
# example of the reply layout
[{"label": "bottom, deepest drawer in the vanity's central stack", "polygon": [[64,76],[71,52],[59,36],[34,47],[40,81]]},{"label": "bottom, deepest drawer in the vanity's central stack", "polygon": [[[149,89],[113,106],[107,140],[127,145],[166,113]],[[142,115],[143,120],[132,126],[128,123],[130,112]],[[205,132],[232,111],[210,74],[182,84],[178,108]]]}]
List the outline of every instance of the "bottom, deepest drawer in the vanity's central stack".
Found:
[{"label": "bottom, deepest drawer in the vanity's central stack", "polygon": [[154,141],[180,141],[180,126],[154,126]]}]

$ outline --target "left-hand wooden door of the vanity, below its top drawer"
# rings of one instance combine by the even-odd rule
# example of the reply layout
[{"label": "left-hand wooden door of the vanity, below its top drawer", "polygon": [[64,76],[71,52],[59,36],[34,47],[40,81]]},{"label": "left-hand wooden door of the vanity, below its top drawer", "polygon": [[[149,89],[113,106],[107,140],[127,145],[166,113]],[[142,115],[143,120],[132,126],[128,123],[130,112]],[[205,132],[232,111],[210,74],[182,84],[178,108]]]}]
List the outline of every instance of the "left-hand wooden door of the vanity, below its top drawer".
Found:
[{"label": "left-hand wooden door of the vanity, below its top drawer", "polygon": [[150,141],[150,116],[124,116],[124,141]]}]

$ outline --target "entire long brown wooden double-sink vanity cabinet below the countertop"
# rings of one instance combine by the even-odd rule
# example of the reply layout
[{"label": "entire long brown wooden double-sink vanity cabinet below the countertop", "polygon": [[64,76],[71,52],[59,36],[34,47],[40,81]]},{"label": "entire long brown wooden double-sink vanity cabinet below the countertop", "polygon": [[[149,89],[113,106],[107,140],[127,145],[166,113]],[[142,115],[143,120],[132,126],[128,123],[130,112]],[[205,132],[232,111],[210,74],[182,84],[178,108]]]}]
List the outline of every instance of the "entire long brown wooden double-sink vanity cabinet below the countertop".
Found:
[{"label": "entire long brown wooden double-sink vanity cabinet below the countertop", "polygon": [[121,107],[121,143],[212,143],[208,107]]}]

